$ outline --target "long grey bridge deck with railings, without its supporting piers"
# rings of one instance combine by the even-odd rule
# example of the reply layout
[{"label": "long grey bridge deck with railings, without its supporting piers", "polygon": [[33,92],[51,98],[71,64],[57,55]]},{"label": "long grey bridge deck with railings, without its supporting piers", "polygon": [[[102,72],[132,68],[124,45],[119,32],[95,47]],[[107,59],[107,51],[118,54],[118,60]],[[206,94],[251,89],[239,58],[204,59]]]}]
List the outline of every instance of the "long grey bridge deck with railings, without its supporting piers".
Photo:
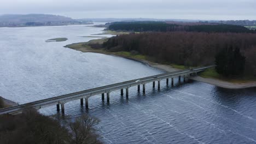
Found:
[{"label": "long grey bridge deck with railings, without its supporting piers", "polygon": [[4,113],[21,111],[26,106],[32,106],[36,109],[40,109],[42,107],[51,106],[51,105],[55,105],[55,104],[63,104],[63,103],[67,103],[68,101],[77,100],[77,99],[84,98],[84,97],[89,98],[89,97],[92,97],[97,94],[109,93],[112,91],[116,91],[118,89],[129,88],[129,87],[136,86],[136,85],[144,85],[149,82],[160,81],[163,79],[168,79],[168,78],[176,77],[176,76],[180,76],[180,75],[198,73],[200,71],[203,71],[203,70],[211,68],[211,67],[214,67],[214,65],[210,65],[207,67],[186,69],[186,70],[178,70],[178,71],[173,71],[170,73],[148,76],[148,77],[143,77],[141,79],[134,79],[134,80],[130,80],[130,81],[115,83],[112,85],[87,89],[85,91],[75,92],[75,93],[71,93],[71,94],[64,94],[64,95],[60,95],[60,96],[53,97],[53,98],[38,100],[38,101],[34,101],[31,103],[27,103],[27,104],[22,104],[22,105],[18,105],[18,106],[12,106],[12,107],[0,109],[0,115],[2,115]]}]

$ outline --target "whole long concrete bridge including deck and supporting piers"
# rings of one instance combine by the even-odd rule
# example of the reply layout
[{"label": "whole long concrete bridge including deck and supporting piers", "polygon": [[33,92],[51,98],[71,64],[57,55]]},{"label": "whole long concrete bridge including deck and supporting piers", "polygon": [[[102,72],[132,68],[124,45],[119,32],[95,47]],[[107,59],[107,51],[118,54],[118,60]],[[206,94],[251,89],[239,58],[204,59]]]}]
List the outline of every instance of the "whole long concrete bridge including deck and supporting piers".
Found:
[{"label": "whole long concrete bridge including deck and supporting piers", "polygon": [[155,82],[158,82],[158,89],[160,89],[160,81],[161,80],[166,80],[166,84],[168,85],[168,81],[169,81],[169,79],[171,79],[171,85],[173,86],[173,78],[174,77],[178,77],[178,80],[181,81],[181,76],[183,76],[184,81],[185,81],[185,76],[196,75],[197,73],[204,71],[208,68],[212,68],[212,67],[214,67],[214,65],[210,65],[207,67],[187,69],[187,70],[173,71],[171,73],[148,76],[148,77],[143,77],[141,79],[135,79],[135,80],[125,81],[125,82],[115,83],[113,85],[92,88],[92,89],[88,89],[88,90],[81,91],[81,92],[60,95],[58,97],[38,100],[38,101],[34,101],[32,103],[27,103],[27,104],[22,104],[22,105],[18,105],[18,106],[7,107],[5,109],[0,109],[0,115],[3,115],[5,113],[9,113],[9,114],[19,113],[19,112],[22,112],[22,110],[27,106],[30,106],[30,107],[33,107],[34,109],[39,110],[43,107],[53,106],[53,105],[56,105],[57,111],[60,111],[60,106],[61,106],[61,111],[62,111],[62,113],[64,113],[65,112],[65,103],[67,103],[69,101],[73,101],[73,100],[78,100],[78,99],[80,99],[81,105],[84,104],[84,99],[85,99],[85,106],[86,106],[86,108],[88,108],[88,106],[89,106],[88,99],[90,97],[98,95],[98,94],[102,95],[102,100],[104,100],[104,96],[105,96],[105,94],[107,94],[107,101],[109,102],[110,92],[120,90],[121,95],[124,95],[124,89],[126,89],[125,94],[126,94],[126,97],[128,97],[130,87],[137,86],[138,91],[140,91],[140,88],[142,85],[143,93],[145,93],[146,92],[146,88],[145,88],[146,83],[153,82],[153,88],[154,88]]}]

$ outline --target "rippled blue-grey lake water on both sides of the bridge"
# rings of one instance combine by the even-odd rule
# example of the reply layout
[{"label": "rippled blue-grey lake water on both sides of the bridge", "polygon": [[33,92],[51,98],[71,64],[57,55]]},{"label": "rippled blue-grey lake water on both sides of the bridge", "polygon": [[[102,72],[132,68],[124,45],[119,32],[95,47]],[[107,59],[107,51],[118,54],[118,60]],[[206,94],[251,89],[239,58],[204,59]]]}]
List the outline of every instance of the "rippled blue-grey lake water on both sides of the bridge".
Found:
[{"label": "rippled blue-grey lake water on both sides of the bridge", "polygon": [[[164,73],[129,59],[66,49],[66,44],[101,33],[85,26],[0,28],[0,95],[19,104]],[[110,37],[110,35],[103,35]],[[51,38],[67,41],[45,43]],[[230,90],[189,81],[161,90],[146,85],[146,94],[130,88],[129,98],[110,93],[40,110],[62,120],[89,113],[105,143],[256,143],[256,89]]]}]

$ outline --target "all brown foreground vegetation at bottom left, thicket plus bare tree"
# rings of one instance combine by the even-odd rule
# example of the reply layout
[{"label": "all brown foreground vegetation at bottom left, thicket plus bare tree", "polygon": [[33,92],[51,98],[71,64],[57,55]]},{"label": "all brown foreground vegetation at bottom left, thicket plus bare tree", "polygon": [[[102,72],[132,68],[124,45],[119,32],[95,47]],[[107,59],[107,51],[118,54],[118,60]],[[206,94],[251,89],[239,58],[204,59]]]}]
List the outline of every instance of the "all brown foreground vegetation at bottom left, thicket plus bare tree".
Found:
[{"label": "all brown foreground vegetation at bottom left, thicket plus bare tree", "polygon": [[[70,123],[71,131],[62,127],[58,121],[53,118],[40,115],[36,110],[27,108],[19,115],[0,116],[0,143],[1,144],[40,144],[40,143],[101,143],[97,140],[98,135],[94,133],[92,127],[80,127],[81,125],[94,126],[97,120],[92,121],[88,116],[78,118],[79,121]],[[88,120],[90,119],[90,120]],[[79,125],[78,130],[73,127]],[[85,137],[77,141],[76,134]]]}]

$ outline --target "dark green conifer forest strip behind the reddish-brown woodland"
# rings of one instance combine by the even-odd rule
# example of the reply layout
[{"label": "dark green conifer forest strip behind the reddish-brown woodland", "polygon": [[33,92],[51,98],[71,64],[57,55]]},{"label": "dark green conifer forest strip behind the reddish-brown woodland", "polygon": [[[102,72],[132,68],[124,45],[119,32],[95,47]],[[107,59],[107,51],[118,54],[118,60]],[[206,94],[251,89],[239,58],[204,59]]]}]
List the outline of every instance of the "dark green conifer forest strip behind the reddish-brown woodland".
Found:
[{"label": "dark green conifer forest strip behind the reddish-brown woodland", "polygon": [[255,33],[243,26],[225,25],[218,23],[202,23],[203,25],[186,25],[186,23],[170,22],[113,22],[108,29],[112,31],[132,31],[132,32],[215,32],[215,33]]}]

